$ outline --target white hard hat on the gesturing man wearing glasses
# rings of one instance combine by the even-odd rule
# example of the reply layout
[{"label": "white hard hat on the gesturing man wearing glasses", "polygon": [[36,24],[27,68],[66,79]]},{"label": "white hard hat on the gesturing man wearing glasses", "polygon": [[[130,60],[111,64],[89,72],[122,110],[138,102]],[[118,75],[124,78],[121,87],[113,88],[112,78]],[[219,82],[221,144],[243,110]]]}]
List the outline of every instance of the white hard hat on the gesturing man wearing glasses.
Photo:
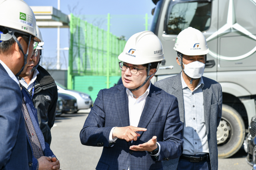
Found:
[{"label": "white hard hat on the gesturing man wearing glasses", "polygon": [[151,31],[136,33],[128,39],[118,59],[136,65],[162,61],[164,60],[162,43]]}]

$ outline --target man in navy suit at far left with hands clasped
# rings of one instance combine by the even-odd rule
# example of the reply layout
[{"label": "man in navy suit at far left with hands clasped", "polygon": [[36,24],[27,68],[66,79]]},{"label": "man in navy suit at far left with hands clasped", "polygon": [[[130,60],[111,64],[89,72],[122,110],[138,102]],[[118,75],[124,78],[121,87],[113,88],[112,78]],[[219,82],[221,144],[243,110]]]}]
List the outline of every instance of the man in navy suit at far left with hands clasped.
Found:
[{"label": "man in navy suit at far left with hands clasped", "polygon": [[[35,28],[36,18],[22,0],[0,1],[0,15],[0,81],[4,80],[0,83],[0,152],[5,153],[0,154],[0,169],[59,169],[59,161],[52,158],[55,156],[49,145],[42,143],[31,98],[14,76],[22,77],[34,65],[33,44],[41,41]],[[30,16],[26,22],[25,16]]]}]

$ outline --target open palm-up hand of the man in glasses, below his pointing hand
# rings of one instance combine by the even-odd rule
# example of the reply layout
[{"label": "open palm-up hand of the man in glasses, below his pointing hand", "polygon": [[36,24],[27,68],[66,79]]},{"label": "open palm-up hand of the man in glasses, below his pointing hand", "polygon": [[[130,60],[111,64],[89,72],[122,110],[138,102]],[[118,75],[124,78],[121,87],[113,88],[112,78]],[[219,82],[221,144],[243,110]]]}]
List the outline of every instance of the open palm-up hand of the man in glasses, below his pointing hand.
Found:
[{"label": "open palm-up hand of the man in glasses, below his pointing hand", "polygon": [[150,139],[146,143],[130,146],[130,150],[135,150],[135,151],[145,151],[146,150],[148,152],[152,152],[153,150],[157,149],[156,141],[157,141],[156,136],[153,136],[152,139]]}]

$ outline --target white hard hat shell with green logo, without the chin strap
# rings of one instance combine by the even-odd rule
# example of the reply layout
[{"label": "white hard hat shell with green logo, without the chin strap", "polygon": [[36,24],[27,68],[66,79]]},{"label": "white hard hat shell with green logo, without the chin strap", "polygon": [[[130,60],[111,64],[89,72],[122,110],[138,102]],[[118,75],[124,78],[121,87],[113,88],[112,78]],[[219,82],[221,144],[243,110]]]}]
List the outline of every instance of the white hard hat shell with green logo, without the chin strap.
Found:
[{"label": "white hard hat shell with green logo, without the chin strap", "polygon": [[34,12],[23,0],[0,0],[0,16],[1,26],[14,29],[13,32],[33,35],[35,41],[41,42],[36,32]]}]

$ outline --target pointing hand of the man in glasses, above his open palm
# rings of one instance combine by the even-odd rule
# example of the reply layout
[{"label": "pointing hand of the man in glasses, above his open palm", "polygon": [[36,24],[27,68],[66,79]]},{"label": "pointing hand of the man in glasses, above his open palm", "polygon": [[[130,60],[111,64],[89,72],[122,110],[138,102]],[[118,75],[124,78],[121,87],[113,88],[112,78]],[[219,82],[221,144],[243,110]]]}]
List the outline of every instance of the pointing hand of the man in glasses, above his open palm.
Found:
[{"label": "pointing hand of the man in glasses, above his open palm", "polygon": [[124,139],[127,142],[130,141],[137,141],[137,137],[140,136],[139,133],[136,131],[146,131],[147,129],[141,127],[133,127],[133,126],[126,126],[126,127],[116,127],[113,131],[112,138],[117,137],[118,139]]}]

